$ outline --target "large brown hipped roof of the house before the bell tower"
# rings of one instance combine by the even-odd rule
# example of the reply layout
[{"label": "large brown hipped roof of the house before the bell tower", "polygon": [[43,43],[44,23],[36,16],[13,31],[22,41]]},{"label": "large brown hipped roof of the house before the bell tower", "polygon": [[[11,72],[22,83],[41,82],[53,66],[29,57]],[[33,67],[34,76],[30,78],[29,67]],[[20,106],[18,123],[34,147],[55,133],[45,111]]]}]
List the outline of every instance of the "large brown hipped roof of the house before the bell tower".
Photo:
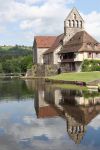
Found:
[{"label": "large brown hipped roof of the house before the bell tower", "polygon": [[100,52],[100,44],[86,31],[77,32],[59,53],[67,52]]}]

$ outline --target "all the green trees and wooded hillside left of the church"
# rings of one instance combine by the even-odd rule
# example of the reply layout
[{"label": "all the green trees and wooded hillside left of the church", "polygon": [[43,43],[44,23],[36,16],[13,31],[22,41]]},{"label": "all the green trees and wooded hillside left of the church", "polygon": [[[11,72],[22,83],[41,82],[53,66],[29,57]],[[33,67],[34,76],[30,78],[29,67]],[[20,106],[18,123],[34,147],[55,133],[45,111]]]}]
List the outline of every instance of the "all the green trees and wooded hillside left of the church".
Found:
[{"label": "all the green trees and wooded hillside left of the church", "polygon": [[18,45],[0,47],[0,73],[25,73],[31,66],[31,47]]}]

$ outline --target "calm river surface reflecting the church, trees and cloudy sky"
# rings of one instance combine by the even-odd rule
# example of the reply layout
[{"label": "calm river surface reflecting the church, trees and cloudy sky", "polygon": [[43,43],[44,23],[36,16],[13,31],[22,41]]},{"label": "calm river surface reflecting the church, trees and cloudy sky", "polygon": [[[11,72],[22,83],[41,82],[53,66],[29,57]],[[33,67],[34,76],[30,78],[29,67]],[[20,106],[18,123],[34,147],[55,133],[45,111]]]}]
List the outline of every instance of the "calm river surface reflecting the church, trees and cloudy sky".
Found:
[{"label": "calm river surface reflecting the church, trees and cloudy sky", "polygon": [[100,93],[0,80],[0,150],[100,150]]}]

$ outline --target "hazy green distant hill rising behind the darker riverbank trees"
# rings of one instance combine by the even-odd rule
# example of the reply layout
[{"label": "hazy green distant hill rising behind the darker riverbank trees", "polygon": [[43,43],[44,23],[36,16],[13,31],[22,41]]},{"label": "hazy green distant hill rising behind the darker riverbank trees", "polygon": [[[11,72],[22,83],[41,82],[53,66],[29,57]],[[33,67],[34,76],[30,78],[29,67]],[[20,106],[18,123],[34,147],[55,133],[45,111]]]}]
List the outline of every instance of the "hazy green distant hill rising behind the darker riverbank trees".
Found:
[{"label": "hazy green distant hill rising behind the darker riverbank trees", "polygon": [[32,47],[27,46],[0,46],[0,58],[12,58],[32,55]]}]

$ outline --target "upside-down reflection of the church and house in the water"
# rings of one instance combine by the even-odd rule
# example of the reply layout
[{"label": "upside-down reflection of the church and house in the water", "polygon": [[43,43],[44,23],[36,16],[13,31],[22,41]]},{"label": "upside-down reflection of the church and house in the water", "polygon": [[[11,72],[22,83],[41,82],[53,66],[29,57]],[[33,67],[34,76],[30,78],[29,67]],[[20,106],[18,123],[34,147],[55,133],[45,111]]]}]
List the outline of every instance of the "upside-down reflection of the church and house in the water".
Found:
[{"label": "upside-down reflection of the church and house in the water", "polygon": [[28,80],[26,84],[35,92],[37,118],[64,118],[69,137],[79,144],[86,126],[100,113],[100,94],[54,88],[41,80]]}]

